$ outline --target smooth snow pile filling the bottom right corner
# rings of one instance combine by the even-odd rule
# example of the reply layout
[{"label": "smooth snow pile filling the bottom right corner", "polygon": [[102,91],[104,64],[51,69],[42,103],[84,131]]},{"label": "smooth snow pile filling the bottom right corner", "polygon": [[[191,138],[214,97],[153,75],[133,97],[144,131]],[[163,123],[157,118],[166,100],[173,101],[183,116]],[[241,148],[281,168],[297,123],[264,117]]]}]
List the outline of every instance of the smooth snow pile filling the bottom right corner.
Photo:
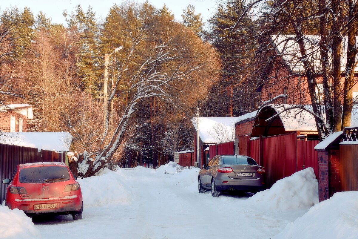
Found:
[{"label": "smooth snow pile filling the bottom right corner", "polygon": [[358,192],[335,193],[286,226],[276,239],[357,238]]}]

